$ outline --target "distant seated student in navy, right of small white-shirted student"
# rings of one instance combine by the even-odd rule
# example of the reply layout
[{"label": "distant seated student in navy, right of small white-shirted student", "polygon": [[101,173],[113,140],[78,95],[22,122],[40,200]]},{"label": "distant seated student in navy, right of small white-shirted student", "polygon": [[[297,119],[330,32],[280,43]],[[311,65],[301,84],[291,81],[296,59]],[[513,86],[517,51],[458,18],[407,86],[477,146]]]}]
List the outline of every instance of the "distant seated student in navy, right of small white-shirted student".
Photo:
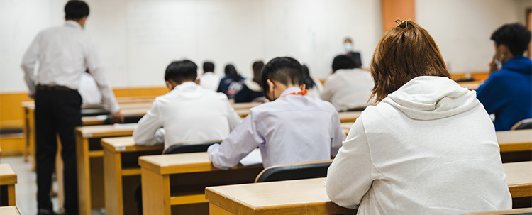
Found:
[{"label": "distant seated student in navy, right of small white-shirted student", "polygon": [[236,94],[244,88],[245,79],[238,74],[235,66],[232,64],[226,65],[224,72],[226,76],[220,80],[216,92],[223,92],[229,99],[235,101]]}]

